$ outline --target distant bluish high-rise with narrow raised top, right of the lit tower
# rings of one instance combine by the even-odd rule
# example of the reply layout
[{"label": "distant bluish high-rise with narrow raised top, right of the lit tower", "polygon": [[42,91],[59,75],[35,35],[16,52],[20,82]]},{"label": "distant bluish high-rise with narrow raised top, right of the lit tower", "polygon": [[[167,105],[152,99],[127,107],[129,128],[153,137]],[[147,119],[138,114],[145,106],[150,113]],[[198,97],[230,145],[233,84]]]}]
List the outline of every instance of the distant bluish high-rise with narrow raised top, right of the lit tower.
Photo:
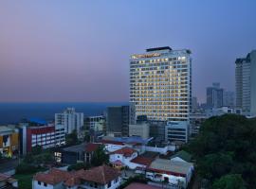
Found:
[{"label": "distant bluish high-rise with narrow raised top, right of the lit tower", "polygon": [[220,83],[212,83],[212,86],[207,88],[207,108],[220,108],[222,106],[223,89],[220,88]]}]

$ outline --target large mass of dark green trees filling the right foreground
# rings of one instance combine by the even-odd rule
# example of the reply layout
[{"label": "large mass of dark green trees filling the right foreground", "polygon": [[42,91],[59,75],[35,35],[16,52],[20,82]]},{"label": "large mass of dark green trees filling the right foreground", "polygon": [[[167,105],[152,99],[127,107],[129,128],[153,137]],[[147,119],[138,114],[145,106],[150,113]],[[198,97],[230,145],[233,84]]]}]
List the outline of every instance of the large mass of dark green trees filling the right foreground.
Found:
[{"label": "large mass of dark green trees filling the right foreground", "polygon": [[255,135],[255,119],[235,114],[210,117],[186,149],[210,184],[226,175],[240,175],[248,188],[256,188]]}]

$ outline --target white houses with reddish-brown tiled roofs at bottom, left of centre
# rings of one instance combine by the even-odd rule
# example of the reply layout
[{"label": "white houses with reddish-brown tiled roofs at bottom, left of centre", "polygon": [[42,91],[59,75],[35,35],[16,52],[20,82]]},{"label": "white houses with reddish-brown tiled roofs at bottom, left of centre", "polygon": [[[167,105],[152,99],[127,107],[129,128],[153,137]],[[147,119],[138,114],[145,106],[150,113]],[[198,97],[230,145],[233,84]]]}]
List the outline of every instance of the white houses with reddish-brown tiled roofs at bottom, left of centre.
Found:
[{"label": "white houses with reddish-brown tiled roofs at bottom, left of centre", "polygon": [[33,189],[117,189],[120,185],[117,169],[101,165],[88,170],[67,172],[52,168],[46,173],[37,173],[32,180]]}]

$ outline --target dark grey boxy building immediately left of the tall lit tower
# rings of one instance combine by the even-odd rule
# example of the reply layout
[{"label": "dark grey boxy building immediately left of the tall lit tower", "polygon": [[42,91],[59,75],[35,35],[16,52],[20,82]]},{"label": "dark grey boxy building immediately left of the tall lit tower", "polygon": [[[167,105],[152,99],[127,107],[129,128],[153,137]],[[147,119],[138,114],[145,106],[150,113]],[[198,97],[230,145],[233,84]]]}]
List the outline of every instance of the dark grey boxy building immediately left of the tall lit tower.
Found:
[{"label": "dark grey boxy building immediately left of the tall lit tower", "polygon": [[107,132],[115,135],[129,135],[130,107],[108,107],[106,112]]}]

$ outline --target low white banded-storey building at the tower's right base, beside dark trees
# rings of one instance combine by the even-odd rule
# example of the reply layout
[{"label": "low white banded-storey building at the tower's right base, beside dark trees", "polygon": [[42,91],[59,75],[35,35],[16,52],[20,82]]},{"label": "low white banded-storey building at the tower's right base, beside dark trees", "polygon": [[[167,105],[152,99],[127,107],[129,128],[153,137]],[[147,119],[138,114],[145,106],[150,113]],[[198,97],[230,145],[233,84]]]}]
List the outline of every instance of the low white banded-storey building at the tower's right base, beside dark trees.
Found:
[{"label": "low white banded-storey building at the tower's right base, beside dark trees", "polygon": [[166,126],[166,139],[170,142],[181,141],[187,143],[189,140],[189,122],[168,122]]}]

